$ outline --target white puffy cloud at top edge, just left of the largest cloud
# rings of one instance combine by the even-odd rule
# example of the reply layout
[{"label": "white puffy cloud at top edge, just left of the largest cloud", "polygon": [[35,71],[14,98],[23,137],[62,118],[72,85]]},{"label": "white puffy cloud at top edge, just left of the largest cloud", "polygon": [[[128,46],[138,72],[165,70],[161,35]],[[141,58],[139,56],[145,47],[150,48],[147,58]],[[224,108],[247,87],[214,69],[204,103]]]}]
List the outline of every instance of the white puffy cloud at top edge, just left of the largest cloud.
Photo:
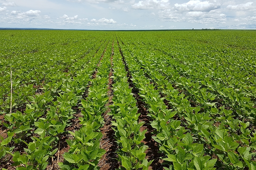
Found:
[{"label": "white puffy cloud at top edge, just left of the largest cloud", "polygon": [[167,9],[169,0],[144,0],[132,5],[133,9],[148,10],[148,9]]}]

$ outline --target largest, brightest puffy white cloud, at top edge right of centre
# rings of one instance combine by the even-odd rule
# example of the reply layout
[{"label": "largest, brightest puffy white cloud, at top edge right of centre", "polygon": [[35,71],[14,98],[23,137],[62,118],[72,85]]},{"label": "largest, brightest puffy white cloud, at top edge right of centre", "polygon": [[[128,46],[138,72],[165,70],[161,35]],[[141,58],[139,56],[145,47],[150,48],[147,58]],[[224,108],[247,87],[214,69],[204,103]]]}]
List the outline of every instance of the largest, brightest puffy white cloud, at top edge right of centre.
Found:
[{"label": "largest, brightest puffy white cloud, at top edge right of centre", "polygon": [[209,12],[220,8],[221,4],[210,3],[209,1],[190,0],[184,4],[174,4],[173,10],[178,12],[184,11],[202,11]]}]

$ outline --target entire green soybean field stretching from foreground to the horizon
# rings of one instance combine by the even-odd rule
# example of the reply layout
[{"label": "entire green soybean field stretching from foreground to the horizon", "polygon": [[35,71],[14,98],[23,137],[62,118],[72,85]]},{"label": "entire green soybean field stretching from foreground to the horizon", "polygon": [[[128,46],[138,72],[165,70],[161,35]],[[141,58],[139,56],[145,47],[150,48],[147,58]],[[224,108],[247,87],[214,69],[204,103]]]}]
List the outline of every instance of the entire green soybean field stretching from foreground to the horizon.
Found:
[{"label": "entire green soybean field stretching from foreground to the horizon", "polygon": [[256,31],[0,31],[0,169],[254,170],[255,117]]}]

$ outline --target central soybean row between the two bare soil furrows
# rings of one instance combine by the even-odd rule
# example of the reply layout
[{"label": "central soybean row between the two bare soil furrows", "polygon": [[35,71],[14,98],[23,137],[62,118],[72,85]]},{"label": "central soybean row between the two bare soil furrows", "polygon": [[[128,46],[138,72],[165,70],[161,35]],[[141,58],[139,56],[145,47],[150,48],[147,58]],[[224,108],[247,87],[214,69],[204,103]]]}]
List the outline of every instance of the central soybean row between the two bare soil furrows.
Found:
[{"label": "central soybean row between the two bare soil furrows", "polygon": [[115,139],[118,144],[119,169],[148,169],[153,160],[145,159],[148,146],[141,141],[145,138],[147,130],[140,131],[145,122],[139,122],[140,113],[136,106],[136,100],[129,88],[127,71],[120,55],[117,44],[114,45],[113,76],[114,80],[112,98],[113,104],[109,107],[113,116],[112,126],[115,131]]}]

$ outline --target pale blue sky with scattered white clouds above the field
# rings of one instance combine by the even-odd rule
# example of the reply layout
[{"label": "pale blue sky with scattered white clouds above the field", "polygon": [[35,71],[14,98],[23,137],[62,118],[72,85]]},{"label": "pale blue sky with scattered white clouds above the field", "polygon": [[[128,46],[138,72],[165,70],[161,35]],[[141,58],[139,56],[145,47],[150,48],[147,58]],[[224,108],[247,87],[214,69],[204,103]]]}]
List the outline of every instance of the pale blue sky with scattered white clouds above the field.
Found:
[{"label": "pale blue sky with scattered white clouds above the field", "polygon": [[256,29],[256,0],[0,0],[0,27]]}]

